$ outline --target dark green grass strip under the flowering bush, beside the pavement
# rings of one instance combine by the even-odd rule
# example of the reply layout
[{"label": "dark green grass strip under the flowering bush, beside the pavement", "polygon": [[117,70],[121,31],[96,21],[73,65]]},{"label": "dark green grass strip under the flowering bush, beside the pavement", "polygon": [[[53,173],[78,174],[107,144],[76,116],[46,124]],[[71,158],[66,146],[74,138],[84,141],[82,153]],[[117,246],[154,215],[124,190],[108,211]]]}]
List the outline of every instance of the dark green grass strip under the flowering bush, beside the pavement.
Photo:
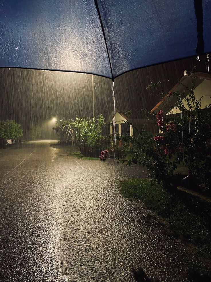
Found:
[{"label": "dark green grass strip under the flowering bush, beside the pavement", "polygon": [[199,254],[211,258],[210,203],[181,191],[171,193],[148,179],[121,181],[120,191],[129,199],[141,199],[196,245]]}]

